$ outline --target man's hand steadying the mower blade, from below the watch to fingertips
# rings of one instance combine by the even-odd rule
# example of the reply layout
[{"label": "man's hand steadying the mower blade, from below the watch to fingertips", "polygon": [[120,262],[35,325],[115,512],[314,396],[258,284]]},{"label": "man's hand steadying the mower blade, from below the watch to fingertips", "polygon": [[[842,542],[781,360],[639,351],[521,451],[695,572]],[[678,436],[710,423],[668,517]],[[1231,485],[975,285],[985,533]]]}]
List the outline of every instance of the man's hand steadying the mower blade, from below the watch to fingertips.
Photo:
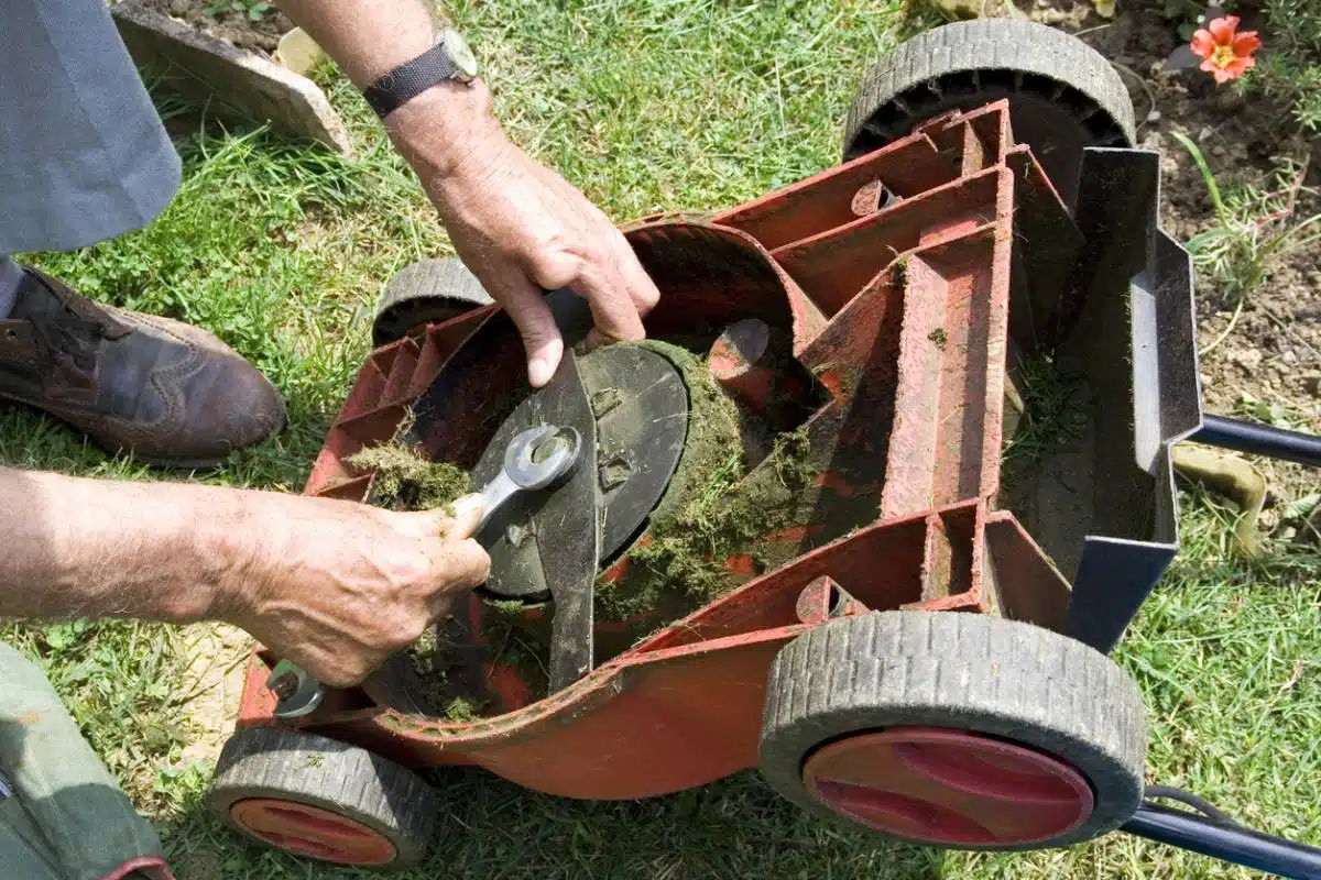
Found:
[{"label": "man's hand steadying the mower blade, from below the watch to fingertips", "polygon": [[642,318],[660,293],[633,248],[580,191],[506,137],[483,84],[419,95],[391,115],[390,132],[458,256],[518,325],[534,388],[550,381],[564,352],[547,290],[569,288],[590,303],[589,344],[646,336]]}]

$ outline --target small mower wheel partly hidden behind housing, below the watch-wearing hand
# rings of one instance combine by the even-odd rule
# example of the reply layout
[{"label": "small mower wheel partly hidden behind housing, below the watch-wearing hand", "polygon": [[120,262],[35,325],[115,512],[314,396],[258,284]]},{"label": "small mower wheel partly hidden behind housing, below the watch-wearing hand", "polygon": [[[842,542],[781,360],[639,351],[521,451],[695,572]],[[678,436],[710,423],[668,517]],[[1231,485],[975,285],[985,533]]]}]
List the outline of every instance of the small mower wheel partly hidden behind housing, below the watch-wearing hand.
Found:
[{"label": "small mower wheel partly hidden behind housing, below the watch-wearing hand", "polygon": [[376,301],[371,343],[396,342],[415,327],[449,321],[491,302],[482,282],[458,257],[419,260],[400,269]]}]

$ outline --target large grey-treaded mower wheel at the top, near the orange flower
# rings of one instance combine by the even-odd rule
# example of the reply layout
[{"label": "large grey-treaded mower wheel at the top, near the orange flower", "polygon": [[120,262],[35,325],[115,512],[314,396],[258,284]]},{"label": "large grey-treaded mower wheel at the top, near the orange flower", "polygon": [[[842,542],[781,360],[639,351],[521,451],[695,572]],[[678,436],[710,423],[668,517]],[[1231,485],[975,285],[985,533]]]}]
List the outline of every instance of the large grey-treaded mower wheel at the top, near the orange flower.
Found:
[{"label": "large grey-treaded mower wheel at the top, near the orange flower", "polygon": [[1046,25],[978,18],[922,33],[868,69],[844,124],[844,160],[1001,98],[1015,140],[1032,146],[1070,207],[1082,150],[1135,142],[1128,90],[1100,53]]}]

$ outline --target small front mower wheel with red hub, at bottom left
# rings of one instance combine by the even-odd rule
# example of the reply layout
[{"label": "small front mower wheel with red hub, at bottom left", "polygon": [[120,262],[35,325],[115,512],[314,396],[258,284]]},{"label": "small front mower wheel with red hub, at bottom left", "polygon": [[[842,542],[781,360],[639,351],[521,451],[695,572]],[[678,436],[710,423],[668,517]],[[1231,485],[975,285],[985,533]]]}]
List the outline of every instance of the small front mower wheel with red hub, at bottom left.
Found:
[{"label": "small front mower wheel with red hub, at bottom left", "polygon": [[435,789],[412,770],[355,745],[276,727],[230,738],[206,805],[277,850],[387,869],[423,860],[440,811]]}]

